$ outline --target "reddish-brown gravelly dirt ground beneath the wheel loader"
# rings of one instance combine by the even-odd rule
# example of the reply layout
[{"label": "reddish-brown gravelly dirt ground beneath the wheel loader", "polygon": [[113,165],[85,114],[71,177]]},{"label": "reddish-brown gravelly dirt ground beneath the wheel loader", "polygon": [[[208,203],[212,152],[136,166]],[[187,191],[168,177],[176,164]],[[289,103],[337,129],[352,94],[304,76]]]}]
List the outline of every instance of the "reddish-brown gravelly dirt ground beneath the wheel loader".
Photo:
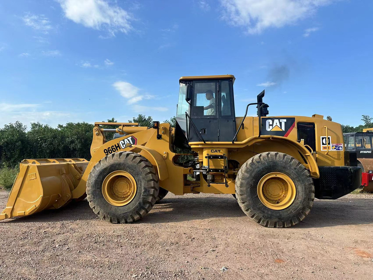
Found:
[{"label": "reddish-brown gravelly dirt ground beneath the wheel loader", "polygon": [[[0,191],[0,206],[8,193]],[[315,200],[264,228],[230,195],[167,195],[132,224],[87,201],[0,222],[0,279],[372,279],[373,196]],[[222,267],[228,268],[220,271]]]}]

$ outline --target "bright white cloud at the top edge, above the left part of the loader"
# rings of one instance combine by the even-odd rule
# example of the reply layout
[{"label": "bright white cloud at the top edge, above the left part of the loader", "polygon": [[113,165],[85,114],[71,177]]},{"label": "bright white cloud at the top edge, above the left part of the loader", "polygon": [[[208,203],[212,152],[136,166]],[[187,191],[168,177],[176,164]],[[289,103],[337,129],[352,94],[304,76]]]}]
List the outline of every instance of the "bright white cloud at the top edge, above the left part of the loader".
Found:
[{"label": "bright white cloud at the top edge, above the left part of the loader", "polygon": [[[104,0],[58,0],[66,18],[77,24],[97,30],[106,30],[111,36],[132,29],[131,15]],[[102,37],[104,38],[104,37]]]}]

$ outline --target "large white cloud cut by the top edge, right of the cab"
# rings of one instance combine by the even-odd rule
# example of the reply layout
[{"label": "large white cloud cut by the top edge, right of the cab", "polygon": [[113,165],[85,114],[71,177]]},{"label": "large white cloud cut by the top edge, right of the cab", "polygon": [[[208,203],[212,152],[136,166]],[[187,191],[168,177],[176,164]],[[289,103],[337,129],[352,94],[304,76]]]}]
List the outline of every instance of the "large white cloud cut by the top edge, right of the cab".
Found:
[{"label": "large white cloud cut by the top edge, right of the cab", "polygon": [[223,19],[258,34],[266,28],[283,27],[306,18],[335,0],[220,0]]}]

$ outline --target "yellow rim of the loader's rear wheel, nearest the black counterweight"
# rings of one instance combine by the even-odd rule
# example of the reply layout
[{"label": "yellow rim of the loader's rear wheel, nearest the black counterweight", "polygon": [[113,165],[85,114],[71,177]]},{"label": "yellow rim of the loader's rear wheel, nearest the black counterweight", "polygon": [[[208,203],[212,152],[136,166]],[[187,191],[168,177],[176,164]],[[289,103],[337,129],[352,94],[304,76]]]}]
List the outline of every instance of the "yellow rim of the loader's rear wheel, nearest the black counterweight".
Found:
[{"label": "yellow rim of the loader's rear wheel, nearest the black counterweight", "polygon": [[257,192],[265,206],[273,210],[282,210],[294,202],[297,190],[288,175],[271,172],[260,179]]}]

